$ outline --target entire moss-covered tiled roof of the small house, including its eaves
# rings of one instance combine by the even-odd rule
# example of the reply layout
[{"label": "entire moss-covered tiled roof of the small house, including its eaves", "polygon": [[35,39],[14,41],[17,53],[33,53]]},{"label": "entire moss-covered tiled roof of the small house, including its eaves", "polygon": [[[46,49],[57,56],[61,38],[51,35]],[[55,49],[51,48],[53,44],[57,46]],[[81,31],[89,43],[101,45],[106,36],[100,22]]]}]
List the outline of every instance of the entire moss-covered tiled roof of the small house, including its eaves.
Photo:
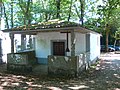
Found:
[{"label": "entire moss-covered tiled roof of the small house, including its eaves", "polygon": [[14,27],[11,29],[2,30],[3,32],[10,32],[14,34],[37,34],[38,32],[66,32],[70,30],[76,30],[81,33],[96,33],[85,27],[81,27],[80,24],[69,21],[61,20],[49,20],[48,22],[41,22],[37,24],[24,25]]}]

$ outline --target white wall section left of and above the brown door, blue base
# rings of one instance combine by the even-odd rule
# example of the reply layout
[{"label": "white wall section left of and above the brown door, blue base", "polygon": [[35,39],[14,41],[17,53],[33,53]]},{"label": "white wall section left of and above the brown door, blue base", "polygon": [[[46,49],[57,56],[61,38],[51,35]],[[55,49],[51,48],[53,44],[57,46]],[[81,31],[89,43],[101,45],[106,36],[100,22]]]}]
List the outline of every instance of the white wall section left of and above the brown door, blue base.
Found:
[{"label": "white wall section left of and above the brown door, blue base", "polygon": [[43,32],[36,36],[36,57],[39,63],[47,64],[47,57],[51,55],[51,40],[66,40],[66,34],[60,32]]}]

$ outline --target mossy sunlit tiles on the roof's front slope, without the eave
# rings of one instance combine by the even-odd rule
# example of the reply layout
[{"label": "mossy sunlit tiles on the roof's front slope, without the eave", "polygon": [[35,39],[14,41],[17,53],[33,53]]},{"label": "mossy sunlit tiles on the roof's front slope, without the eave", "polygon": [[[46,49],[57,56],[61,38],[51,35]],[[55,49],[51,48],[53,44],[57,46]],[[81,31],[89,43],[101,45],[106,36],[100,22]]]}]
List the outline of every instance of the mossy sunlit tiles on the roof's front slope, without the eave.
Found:
[{"label": "mossy sunlit tiles on the roof's front slope, without the eave", "polygon": [[79,24],[68,21],[60,21],[60,20],[50,20],[48,22],[41,22],[37,24],[30,24],[12,28],[11,30],[36,30],[36,29],[52,29],[52,28],[63,28],[63,27],[75,27],[79,26]]}]

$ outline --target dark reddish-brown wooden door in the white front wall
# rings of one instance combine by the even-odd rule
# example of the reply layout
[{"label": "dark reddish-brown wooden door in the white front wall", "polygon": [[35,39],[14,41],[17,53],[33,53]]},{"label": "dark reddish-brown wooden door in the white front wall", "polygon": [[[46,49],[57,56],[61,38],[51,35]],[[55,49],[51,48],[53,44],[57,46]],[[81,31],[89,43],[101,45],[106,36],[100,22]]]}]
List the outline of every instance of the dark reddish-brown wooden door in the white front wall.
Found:
[{"label": "dark reddish-brown wooden door in the white front wall", "polygon": [[53,55],[65,56],[65,42],[53,42]]}]

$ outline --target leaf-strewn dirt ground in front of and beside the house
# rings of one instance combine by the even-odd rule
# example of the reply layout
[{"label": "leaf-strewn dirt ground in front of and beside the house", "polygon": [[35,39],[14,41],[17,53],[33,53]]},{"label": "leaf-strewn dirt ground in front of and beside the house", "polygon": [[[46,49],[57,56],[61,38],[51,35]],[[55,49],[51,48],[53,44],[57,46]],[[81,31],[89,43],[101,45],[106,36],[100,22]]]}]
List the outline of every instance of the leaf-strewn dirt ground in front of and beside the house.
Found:
[{"label": "leaf-strewn dirt ground in front of and beside the house", "polygon": [[120,90],[120,54],[101,54],[99,63],[78,78],[19,75],[0,66],[0,90]]}]

